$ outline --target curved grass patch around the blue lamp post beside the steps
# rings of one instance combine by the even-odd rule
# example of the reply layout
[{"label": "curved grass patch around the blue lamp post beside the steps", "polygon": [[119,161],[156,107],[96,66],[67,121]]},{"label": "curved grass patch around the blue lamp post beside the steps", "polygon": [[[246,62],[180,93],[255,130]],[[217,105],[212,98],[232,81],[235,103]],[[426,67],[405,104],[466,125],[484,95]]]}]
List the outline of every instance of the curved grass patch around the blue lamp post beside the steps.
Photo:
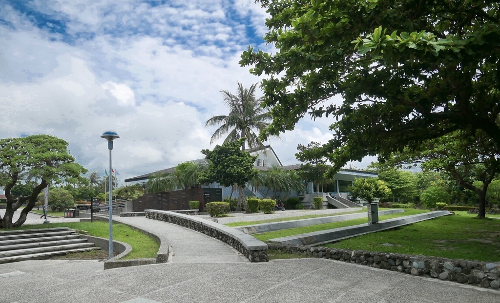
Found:
[{"label": "curved grass patch around the blue lamp post beside the steps", "polygon": [[[107,222],[68,222],[49,223],[40,225],[22,225],[18,229],[39,229],[68,227],[77,231],[86,231],[89,235],[108,238],[109,225]],[[113,240],[128,243],[132,251],[122,259],[155,258],[159,249],[159,243],[143,233],[133,230],[124,224],[113,224]],[[107,256],[106,252],[106,256]],[[107,257],[106,257],[107,258]]]}]

